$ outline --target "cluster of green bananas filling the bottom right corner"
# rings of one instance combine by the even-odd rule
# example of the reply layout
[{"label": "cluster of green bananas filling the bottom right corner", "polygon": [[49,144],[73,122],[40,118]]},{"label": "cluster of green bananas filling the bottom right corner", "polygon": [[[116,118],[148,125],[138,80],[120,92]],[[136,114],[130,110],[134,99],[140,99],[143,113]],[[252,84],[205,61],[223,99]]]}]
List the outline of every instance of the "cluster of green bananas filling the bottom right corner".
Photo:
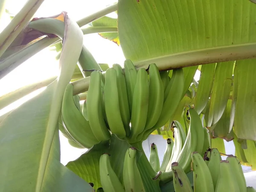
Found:
[{"label": "cluster of green bananas filling the bottom right corner", "polygon": [[246,187],[241,164],[236,156],[228,155],[226,160],[221,160],[218,149],[212,148],[209,151],[208,165],[197,151],[191,154],[194,190],[192,190],[189,178],[180,163],[172,163],[175,192],[246,192],[254,190],[252,187]]}]

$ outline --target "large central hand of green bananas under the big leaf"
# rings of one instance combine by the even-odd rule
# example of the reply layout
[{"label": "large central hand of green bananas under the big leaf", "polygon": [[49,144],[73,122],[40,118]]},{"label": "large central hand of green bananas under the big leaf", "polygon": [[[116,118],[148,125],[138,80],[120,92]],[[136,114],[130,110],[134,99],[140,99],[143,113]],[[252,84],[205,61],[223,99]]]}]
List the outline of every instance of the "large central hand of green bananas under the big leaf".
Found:
[{"label": "large central hand of green bananas under the big leaf", "polygon": [[108,140],[115,134],[128,143],[145,140],[175,113],[183,97],[183,69],[159,72],[156,64],[136,70],[125,60],[125,73],[119,64],[105,74],[93,71],[84,105],[73,96],[73,85],[64,93],[61,122],[64,135],[81,148]]}]

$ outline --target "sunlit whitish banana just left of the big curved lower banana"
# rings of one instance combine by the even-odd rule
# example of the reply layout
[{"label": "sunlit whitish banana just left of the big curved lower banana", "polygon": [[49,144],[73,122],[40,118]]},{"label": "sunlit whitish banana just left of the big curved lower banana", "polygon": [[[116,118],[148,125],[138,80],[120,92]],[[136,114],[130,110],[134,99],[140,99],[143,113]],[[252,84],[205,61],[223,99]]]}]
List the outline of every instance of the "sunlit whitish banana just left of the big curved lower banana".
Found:
[{"label": "sunlit whitish banana just left of the big curved lower banana", "polygon": [[[174,121],[173,125],[174,125],[174,145],[172,149],[172,155],[169,160],[169,164],[177,160],[177,157],[180,154],[180,151],[182,150],[183,145],[186,141],[186,134],[184,132],[183,127],[180,125],[180,123],[178,121]],[[168,170],[165,170],[165,171],[168,171]]]}]

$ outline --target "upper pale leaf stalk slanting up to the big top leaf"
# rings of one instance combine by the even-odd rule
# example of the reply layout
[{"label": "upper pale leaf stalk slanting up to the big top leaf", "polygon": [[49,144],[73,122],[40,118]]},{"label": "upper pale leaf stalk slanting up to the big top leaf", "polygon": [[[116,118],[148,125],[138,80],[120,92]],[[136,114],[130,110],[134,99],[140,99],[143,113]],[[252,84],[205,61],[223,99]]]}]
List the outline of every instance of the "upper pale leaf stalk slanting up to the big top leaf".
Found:
[{"label": "upper pale leaf stalk slanting up to the big top leaf", "polygon": [[108,15],[109,13],[112,13],[117,10],[117,3],[106,7],[105,9],[100,10],[99,12],[93,13],[92,15],[89,15],[87,17],[84,17],[80,20],[78,20],[76,23],[79,25],[79,27],[87,25],[88,23],[93,22],[94,20],[97,20],[105,15]]}]

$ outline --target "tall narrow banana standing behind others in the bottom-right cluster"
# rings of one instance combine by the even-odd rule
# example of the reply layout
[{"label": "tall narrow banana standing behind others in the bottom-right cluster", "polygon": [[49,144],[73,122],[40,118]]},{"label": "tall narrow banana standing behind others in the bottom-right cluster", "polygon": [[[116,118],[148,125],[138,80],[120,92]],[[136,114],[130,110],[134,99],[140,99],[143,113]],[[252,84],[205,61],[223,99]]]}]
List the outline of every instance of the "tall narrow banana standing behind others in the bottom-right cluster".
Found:
[{"label": "tall narrow banana standing behind others in the bottom-right cluster", "polygon": [[210,160],[208,163],[208,169],[212,175],[212,181],[214,189],[216,189],[217,181],[218,181],[218,175],[220,172],[220,163],[221,163],[221,155],[217,148],[211,148],[210,152]]}]

